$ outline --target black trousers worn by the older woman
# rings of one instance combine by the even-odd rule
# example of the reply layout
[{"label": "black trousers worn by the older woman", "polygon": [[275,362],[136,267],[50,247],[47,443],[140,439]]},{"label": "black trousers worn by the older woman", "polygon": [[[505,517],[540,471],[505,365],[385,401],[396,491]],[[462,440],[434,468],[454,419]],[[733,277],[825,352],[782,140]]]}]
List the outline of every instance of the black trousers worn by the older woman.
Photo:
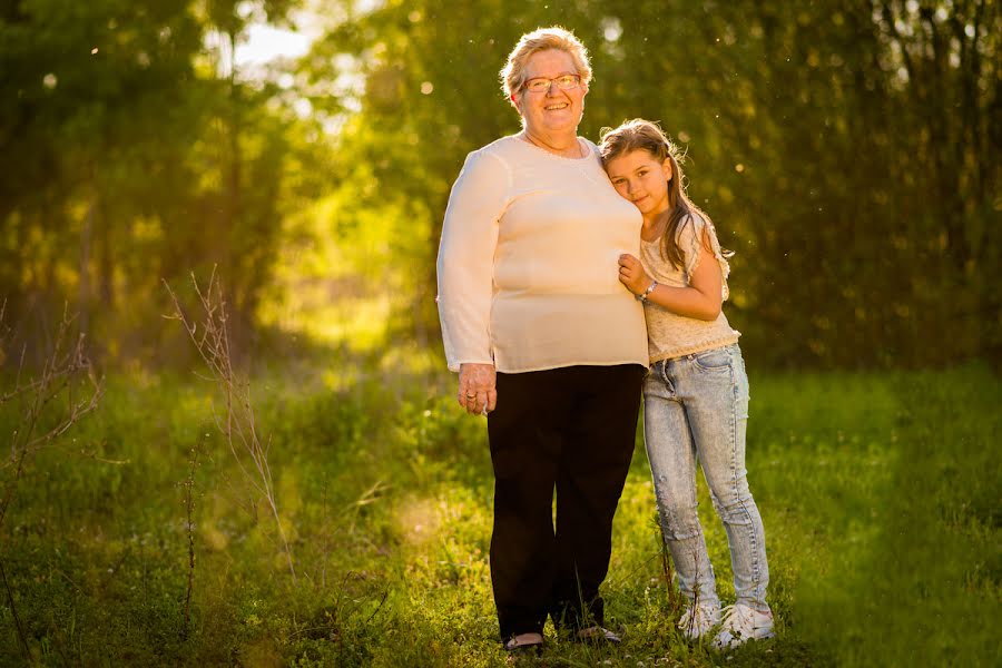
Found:
[{"label": "black trousers worn by the older woman", "polygon": [[[638,364],[498,374],[491,582],[501,637],[602,625],[612,515],[633,454]],[[557,525],[553,525],[553,491]]]}]

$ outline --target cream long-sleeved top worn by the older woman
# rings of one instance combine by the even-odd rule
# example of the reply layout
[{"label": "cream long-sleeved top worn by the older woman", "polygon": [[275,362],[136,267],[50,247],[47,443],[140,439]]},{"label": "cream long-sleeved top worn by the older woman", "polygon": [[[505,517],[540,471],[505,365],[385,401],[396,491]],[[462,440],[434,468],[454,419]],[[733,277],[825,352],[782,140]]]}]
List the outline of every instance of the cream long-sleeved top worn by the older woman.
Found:
[{"label": "cream long-sleeved top worn by the older woman", "polygon": [[648,364],[644,307],[619,282],[642,218],[598,149],[563,158],[517,137],[471,153],[439,245],[439,316],[449,369],[503,373]]}]

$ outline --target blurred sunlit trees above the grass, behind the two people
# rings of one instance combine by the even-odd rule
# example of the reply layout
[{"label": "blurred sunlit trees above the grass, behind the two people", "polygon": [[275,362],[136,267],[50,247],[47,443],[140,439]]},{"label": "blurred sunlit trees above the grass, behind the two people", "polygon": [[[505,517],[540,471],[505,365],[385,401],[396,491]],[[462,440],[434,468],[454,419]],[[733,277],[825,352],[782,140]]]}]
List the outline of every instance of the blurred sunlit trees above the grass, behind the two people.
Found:
[{"label": "blurred sunlit trees above the grass, behind the two people", "polygon": [[[588,46],[581,134],[659,120],[772,367],[998,363],[993,0],[9,0],[0,295],[104,365],[187,362],[164,282],[213,267],[235,348],[441,364],[434,256],[468,151],[519,129],[523,32]],[[187,293],[184,293],[187,294]]]}]

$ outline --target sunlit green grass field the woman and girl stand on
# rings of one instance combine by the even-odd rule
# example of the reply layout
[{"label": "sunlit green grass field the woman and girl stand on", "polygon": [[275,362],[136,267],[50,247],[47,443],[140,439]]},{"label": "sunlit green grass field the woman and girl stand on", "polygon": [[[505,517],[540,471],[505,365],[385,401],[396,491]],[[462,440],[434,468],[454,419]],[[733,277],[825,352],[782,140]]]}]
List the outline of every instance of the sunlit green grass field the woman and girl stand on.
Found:
[{"label": "sunlit green grass field the woman and girl stand on", "polygon": [[[484,424],[460,413],[451,377],[404,367],[254,376],[295,578],[261,477],[214,424],[213,384],[109,377],[100,407],[9,488],[0,664],[505,665]],[[996,665],[999,376],[768,375],[754,361],[749,373],[749,480],[778,637],[721,655],[675,630],[638,434],[605,586],[625,641],[589,648],[548,629],[538,662]],[[10,404],[0,420],[17,429]],[[728,602],[724,531],[701,481],[700,494]]]}]

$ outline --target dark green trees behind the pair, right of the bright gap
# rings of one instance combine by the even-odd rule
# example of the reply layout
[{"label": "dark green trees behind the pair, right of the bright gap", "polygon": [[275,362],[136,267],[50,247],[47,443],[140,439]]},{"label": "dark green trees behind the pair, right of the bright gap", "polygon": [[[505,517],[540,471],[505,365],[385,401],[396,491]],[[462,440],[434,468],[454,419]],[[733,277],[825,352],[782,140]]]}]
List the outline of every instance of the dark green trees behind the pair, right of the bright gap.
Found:
[{"label": "dark green trees behind the pair, right of the bright gap", "polygon": [[[424,276],[402,308],[419,330],[435,327],[433,258],[463,157],[518,129],[498,70],[521,33],[559,23],[592,55],[583,135],[642,116],[688,147],[689,193],[737,250],[729,315],[757,357],[856,367],[996,355],[998,3],[376,7],[316,56],[356,58],[364,77],[340,139],[362,184],[379,187],[353,202],[386,212],[400,250],[387,268]],[[965,317],[978,325],[932,343]]]}]

